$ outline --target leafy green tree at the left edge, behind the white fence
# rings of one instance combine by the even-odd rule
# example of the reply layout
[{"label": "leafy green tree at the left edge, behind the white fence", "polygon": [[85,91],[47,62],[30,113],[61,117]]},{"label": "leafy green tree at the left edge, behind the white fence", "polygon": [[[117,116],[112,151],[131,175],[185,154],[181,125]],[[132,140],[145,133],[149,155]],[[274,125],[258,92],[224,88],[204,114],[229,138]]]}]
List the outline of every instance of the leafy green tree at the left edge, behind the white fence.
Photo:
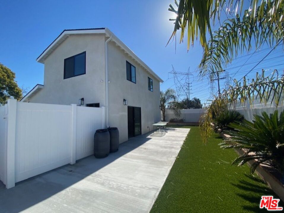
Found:
[{"label": "leafy green tree at the left edge, behind the white fence", "polygon": [[6,104],[9,98],[20,100],[22,90],[15,81],[15,72],[0,63],[0,104]]}]

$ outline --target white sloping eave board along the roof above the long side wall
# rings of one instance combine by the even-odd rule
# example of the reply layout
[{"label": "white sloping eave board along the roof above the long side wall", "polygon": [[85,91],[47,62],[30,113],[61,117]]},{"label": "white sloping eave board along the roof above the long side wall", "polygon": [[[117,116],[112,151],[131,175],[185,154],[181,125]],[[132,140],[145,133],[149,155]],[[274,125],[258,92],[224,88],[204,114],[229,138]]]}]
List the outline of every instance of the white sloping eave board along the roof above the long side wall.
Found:
[{"label": "white sloping eave board along the roof above the long side wall", "polygon": [[108,28],[105,28],[106,35],[112,35],[112,40],[117,43],[127,54],[129,54],[134,60],[136,60],[142,67],[144,67],[151,75],[153,75],[159,82],[163,83],[164,81],[148,67],[129,47],[127,47],[119,38],[117,38],[114,33],[112,33]]}]

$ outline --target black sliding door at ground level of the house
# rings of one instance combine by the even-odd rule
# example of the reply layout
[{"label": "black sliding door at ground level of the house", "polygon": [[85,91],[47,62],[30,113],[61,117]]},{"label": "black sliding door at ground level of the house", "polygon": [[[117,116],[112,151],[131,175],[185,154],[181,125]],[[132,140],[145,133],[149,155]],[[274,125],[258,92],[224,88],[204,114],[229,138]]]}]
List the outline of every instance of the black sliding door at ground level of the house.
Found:
[{"label": "black sliding door at ground level of the house", "polygon": [[141,135],[141,108],[128,106],[128,138]]}]

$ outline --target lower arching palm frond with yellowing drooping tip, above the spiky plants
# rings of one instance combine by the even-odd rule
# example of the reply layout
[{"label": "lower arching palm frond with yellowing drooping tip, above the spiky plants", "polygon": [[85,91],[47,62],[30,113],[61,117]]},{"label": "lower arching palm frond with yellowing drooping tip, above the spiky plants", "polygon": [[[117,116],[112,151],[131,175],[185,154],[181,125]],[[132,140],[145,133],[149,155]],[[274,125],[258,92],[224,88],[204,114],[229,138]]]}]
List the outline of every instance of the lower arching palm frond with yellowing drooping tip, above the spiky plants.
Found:
[{"label": "lower arching palm frond with yellowing drooping tip, above the spiky plants", "polygon": [[269,76],[256,73],[256,78],[251,80],[251,83],[238,83],[229,86],[229,89],[224,90],[217,96],[200,118],[200,133],[204,142],[212,134],[211,123],[214,116],[218,116],[224,111],[224,107],[234,107],[237,101],[243,105],[249,103],[253,105],[254,100],[259,100],[264,105],[275,103],[275,106],[283,105],[284,100],[284,76],[279,77],[277,70]]}]

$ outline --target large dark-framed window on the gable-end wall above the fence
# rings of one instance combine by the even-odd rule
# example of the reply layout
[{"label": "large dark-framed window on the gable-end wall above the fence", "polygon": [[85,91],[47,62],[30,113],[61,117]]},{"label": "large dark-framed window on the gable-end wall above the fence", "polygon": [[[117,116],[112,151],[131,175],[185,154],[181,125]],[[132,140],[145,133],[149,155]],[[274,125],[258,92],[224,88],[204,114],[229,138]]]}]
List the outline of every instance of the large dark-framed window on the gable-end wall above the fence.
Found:
[{"label": "large dark-framed window on the gable-end wall above the fence", "polygon": [[64,79],[86,74],[86,52],[64,59]]}]

